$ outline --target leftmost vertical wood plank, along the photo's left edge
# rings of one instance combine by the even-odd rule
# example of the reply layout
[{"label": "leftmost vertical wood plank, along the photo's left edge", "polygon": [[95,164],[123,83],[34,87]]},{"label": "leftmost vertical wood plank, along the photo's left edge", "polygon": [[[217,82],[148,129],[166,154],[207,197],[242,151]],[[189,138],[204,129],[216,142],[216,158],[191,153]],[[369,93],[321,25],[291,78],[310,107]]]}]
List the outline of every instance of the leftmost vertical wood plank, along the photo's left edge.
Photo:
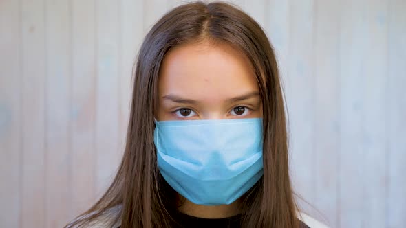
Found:
[{"label": "leftmost vertical wood plank, along the photo's left edge", "polygon": [[0,227],[19,227],[20,5],[0,1]]}]

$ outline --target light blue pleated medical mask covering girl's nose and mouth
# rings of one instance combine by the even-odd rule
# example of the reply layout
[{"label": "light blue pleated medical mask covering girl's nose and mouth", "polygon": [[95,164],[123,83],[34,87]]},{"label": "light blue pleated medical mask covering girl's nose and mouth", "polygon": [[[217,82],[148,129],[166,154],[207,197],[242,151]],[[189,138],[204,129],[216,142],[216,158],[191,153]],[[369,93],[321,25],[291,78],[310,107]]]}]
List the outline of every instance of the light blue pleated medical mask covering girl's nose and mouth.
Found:
[{"label": "light blue pleated medical mask covering girl's nose and mouth", "polygon": [[264,174],[262,119],[156,121],[158,168],[199,205],[233,203]]}]

